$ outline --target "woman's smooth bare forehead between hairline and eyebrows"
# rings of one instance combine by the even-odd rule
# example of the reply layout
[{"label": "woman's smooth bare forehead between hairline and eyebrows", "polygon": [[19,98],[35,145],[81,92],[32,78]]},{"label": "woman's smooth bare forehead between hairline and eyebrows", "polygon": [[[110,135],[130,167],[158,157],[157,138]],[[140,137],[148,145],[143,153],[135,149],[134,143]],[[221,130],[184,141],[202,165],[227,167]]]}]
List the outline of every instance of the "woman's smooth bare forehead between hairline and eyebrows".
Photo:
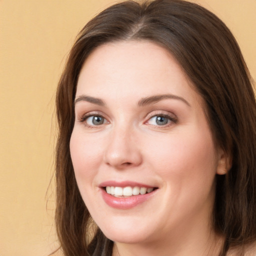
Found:
[{"label": "woman's smooth bare forehead between hairline and eyebrows", "polygon": [[168,50],[151,41],[118,41],[100,45],[87,57],[76,96],[129,100],[156,93],[199,99]]}]

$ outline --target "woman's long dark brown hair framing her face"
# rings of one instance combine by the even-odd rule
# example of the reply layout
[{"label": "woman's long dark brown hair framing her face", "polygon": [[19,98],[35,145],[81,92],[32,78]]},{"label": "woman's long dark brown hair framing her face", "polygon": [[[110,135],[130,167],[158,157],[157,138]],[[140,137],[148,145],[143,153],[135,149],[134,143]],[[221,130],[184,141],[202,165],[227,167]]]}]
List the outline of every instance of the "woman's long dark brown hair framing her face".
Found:
[{"label": "woman's long dark brown hair framing her face", "polygon": [[[215,144],[231,159],[217,175],[212,224],[225,237],[221,255],[256,240],[256,104],[240,49],[225,24],[183,0],[114,4],[90,20],[70,50],[56,95],[56,228],[65,256],[111,255],[76,185],[69,152],[77,77],[90,52],[118,40],[151,40],[168,49],[202,96]],[[242,251],[242,250],[241,250]],[[242,253],[241,253],[242,254]]]}]

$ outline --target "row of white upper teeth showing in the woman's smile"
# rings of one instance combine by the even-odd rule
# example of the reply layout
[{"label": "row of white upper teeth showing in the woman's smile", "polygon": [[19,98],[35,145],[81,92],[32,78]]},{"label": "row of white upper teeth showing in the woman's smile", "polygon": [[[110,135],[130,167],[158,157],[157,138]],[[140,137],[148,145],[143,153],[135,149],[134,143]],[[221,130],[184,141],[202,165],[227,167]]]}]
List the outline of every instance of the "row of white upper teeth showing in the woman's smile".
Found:
[{"label": "row of white upper teeth showing in the woman's smile", "polygon": [[134,186],[133,188],[131,186],[106,186],[106,192],[108,194],[111,194],[113,196],[132,196],[132,195],[138,195],[138,194],[145,194],[150,193],[153,191],[153,187],[138,187]]}]

